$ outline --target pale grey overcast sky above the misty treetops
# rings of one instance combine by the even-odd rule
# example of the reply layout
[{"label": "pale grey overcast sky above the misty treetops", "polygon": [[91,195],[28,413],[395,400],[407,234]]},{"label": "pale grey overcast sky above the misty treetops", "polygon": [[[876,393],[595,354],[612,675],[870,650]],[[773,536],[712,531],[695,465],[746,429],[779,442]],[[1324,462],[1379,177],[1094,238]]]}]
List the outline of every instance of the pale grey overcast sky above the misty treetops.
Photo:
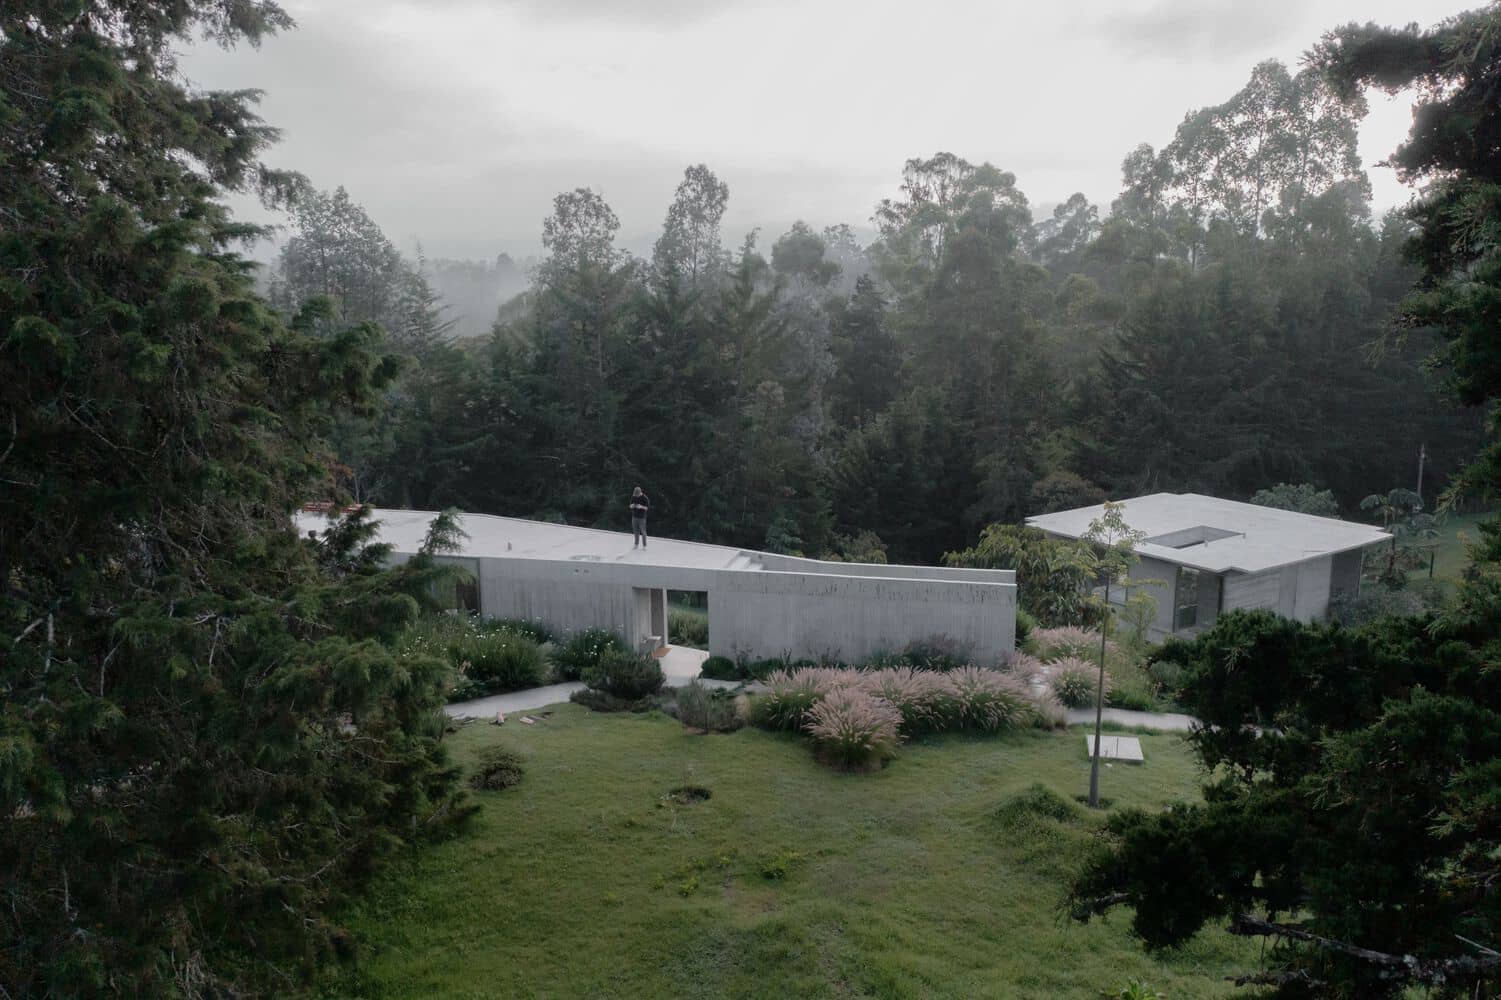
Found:
[{"label": "pale grey overcast sky above the misty treetops", "polygon": [[[284,131],[267,162],[344,185],[404,251],[494,257],[539,252],[552,195],[578,186],[641,252],[696,162],[729,185],[726,234],[763,245],[799,218],[869,228],[902,164],[940,150],[1013,171],[1037,215],[1075,191],[1108,207],[1132,147],[1160,149],[1255,63],[1478,0],[282,3],[296,30],[194,47],[183,71],[264,90]],[[1408,197],[1375,164],[1409,110],[1372,95],[1378,212]]]}]

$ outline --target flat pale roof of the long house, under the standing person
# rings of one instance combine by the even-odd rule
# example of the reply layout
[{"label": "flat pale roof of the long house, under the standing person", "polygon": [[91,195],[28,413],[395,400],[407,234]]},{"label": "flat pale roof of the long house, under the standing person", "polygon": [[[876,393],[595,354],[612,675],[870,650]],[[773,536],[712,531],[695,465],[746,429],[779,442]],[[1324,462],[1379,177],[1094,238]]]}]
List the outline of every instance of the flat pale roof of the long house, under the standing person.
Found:
[{"label": "flat pale roof of the long house, under the standing person", "polygon": [[[437,511],[393,511],[375,508],[372,520],[380,524],[378,539],[398,553],[416,553],[428,535]],[[297,530],[306,535],[329,526],[324,514],[299,512]],[[570,524],[549,524],[524,518],[501,518],[492,514],[461,514],[459,526],[468,541],[452,557],[543,559],[549,562],[626,563],[662,566],[668,569],[731,569],[738,557],[754,557],[728,545],[680,542],[669,538],[648,538],[647,548],[633,548],[629,532],[603,532]],[[741,566],[734,566],[735,569]],[[744,566],[755,569],[755,566]]]}]

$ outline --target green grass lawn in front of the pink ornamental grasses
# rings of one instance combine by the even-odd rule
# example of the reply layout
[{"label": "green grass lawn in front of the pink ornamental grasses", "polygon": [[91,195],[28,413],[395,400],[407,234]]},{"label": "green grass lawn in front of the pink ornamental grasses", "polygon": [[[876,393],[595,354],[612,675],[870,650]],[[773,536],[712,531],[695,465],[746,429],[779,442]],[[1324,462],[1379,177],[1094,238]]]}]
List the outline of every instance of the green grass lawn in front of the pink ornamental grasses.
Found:
[{"label": "green grass lawn in front of the pink ornamental grasses", "polygon": [[[817,764],[803,740],[690,736],[665,716],[563,706],[534,727],[470,725],[527,773],[483,793],[438,845],[351,914],[363,997],[1097,997],[1127,977],[1169,997],[1246,995],[1256,944],[1222,931],[1162,958],[1124,913],[1078,925],[1060,901],[1099,815],[1021,815],[1034,782],[1088,787],[1084,730],[937,737],[883,772]],[[1103,772],[1115,805],[1195,794],[1174,736]],[[711,797],[674,802],[672,788]],[[1012,808],[1003,808],[1010,803]]]}]

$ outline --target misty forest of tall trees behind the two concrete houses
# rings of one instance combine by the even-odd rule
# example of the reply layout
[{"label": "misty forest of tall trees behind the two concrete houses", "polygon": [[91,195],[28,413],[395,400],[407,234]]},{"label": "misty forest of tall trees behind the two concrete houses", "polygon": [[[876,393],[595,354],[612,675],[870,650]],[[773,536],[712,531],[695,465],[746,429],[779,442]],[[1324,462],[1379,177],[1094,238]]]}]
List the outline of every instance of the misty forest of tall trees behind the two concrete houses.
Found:
[{"label": "misty forest of tall trees behind the two concrete houses", "polygon": [[1106,495],[1307,482],[1355,515],[1418,485],[1423,446],[1432,498],[1483,435],[1420,363],[1433,344],[1391,327],[1412,222],[1372,216],[1363,113],[1267,62],[1132,150],[1108,210],[1034,218],[1013,174],[938,153],[868,245],[794,224],[723,246],[731,192],[695,165],[650,260],[578,189],[525,273],[404,258],[341,188],[263,281],[405,357],[336,438],[350,492],[386,506],[624,527],[639,483],[663,535],[902,562]]}]

